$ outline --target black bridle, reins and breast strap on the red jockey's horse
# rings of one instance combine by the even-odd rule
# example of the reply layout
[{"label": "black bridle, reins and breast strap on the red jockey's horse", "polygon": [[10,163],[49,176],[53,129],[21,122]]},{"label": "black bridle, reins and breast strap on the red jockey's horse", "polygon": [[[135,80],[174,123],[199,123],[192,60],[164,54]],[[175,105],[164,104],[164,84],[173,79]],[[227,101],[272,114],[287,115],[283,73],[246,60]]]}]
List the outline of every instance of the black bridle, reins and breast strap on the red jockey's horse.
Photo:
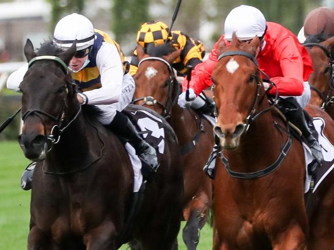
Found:
[{"label": "black bridle, reins and breast strap on the red jockey's horse", "polygon": [[[250,114],[247,116],[246,122],[244,124],[245,128],[246,128],[245,131],[244,131],[244,133],[246,133],[247,130],[249,129],[249,126],[250,126],[251,122],[253,122],[257,117],[259,117],[259,116],[267,113],[268,111],[270,111],[275,106],[275,104],[276,104],[276,102],[278,100],[278,97],[279,97],[279,91],[278,91],[276,85],[274,84],[274,82],[272,82],[269,79],[268,75],[265,72],[263,72],[262,70],[260,70],[258,68],[257,60],[256,60],[255,56],[253,54],[251,54],[251,53],[248,53],[248,52],[245,52],[245,51],[228,51],[228,52],[222,53],[218,57],[218,61],[221,58],[223,58],[223,57],[233,56],[233,55],[241,55],[241,56],[245,56],[245,57],[249,58],[251,61],[253,61],[253,63],[255,64],[255,66],[257,68],[257,70],[266,76],[266,78],[268,79],[268,81],[270,83],[270,87],[266,90],[264,96],[268,93],[268,91],[273,86],[276,88],[276,94],[275,94],[274,100],[272,101],[272,105],[269,108],[264,109],[262,111],[259,111],[257,114],[255,114],[255,111],[256,111],[256,108],[258,106],[258,103],[261,102],[263,100],[263,98],[264,98],[264,96],[263,96],[261,98],[261,101],[258,101],[258,99],[259,99],[259,91],[260,91],[260,89],[262,87],[262,82],[261,82],[261,79],[259,79],[257,77],[257,75],[255,75],[255,79],[256,79],[256,83],[257,83],[256,84],[256,96],[255,96],[255,100],[254,100],[254,103],[253,103],[253,108],[251,109]],[[218,114],[216,114],[216,115],[218,115]],[[277,127],[277,125],[276,125],[276,128],[279,129],[279,127]],[[234,177],[234,178],[239,178],[239,179],[256,179],[256,178],[259,178],[259,177],[266,176],[266,175],[272,173],[273,171],[275,171],[277,168],[279,168],[279,166],[284,161],[287,153],[290,151],[290,148],[291,148],[291,145],[292,145],[292,138],[291,138],[291,135],[290,135],[289,131],[287,131],[287,134],[288,134],[288,139],[287,139],[284,147],[283,148],[281,147],[280,155],[276,158],[276,160],[271,165],[269,165],[267,168],[265,168],[263,170],[259,170],[259,171],[251,172],[251,173],[242,173],[242,172],[232,171],[230,169],[228,159],[224,156],[222,150],[219,152],[220,160],[225,165],[225,169],[228,172],[228,174],[230,176]]]}]

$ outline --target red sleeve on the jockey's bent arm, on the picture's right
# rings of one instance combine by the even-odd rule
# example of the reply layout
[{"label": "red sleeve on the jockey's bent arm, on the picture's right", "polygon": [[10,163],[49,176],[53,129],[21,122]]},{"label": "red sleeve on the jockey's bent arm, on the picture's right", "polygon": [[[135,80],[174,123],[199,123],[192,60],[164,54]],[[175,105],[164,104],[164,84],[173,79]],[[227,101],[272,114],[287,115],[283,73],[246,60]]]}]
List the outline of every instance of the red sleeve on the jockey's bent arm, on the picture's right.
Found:
[{"label": "red sleeve on the jockey's bent arm, on the picture's right", "polygon": [[[279,95],[300,96],[304,91],[303,60],[291,36],[286,36],[274,48],[274,57],[279,60],[283,76],[272,77]],[[275,88],[269,91],[275,94]]]}]

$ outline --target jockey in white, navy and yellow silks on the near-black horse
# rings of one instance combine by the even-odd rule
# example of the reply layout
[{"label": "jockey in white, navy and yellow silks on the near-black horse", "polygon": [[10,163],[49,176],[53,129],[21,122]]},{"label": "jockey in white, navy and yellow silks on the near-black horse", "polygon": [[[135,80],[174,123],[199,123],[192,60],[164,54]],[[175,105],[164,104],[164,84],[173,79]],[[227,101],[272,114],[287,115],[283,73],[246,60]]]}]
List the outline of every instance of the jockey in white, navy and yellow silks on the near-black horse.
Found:
[{"label": "jockey in white, navy and yellow silks on the near-black horse", "polygon": [[[87,17],[76,13],[60,19],[53,36],[53,43],[63,49],[77,40],[77,52],[70,60],[69,69],[82,90],[77,95],[79,102],[96,106],[101,111],[98,120],[125,138],[142,161],[156,169],[155,149],[139,136],[127,116],[120,112],[132,101],[135,92],[135,81],[128,73],[120,46],[105,32],[94,29]],[[26,64],[13,72],[7,80],[7,88],[19,91],[18,86],[27,70]],[[22,186],[29,189],[26,183],[22,182]]]}]

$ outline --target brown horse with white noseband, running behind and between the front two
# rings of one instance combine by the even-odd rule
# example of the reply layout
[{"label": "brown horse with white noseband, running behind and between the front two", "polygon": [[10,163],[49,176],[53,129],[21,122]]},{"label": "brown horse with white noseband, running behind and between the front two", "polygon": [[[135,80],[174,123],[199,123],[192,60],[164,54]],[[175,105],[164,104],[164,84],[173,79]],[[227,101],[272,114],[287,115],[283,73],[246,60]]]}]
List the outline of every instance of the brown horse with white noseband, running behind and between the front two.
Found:
[{"label": "brown horse with white noseband, running behind and between the front two", "polygon": [[191,250],[197,247],[199,230],[207,221],[212,204],[212,183],[202,169],[212,150],[213,132],[201,114],[177,105],[180,86],[171,64],[180,50],[168,54],[169,49],[167,45],[149,47],[145,54],[137,46],[140,64],[134,77],[135,103],[165,116],[177,135],[184,176],[183,218],[187,221],[183,241]]}]

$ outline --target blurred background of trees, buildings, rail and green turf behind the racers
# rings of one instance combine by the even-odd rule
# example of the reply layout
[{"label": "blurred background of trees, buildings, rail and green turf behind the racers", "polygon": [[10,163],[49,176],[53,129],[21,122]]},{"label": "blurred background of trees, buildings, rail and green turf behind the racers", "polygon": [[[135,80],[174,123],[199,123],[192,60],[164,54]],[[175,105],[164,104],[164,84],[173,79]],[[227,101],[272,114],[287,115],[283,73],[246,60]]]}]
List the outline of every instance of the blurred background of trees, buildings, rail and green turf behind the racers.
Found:
[{"label": "blurred background of trees, buildings, rail and green turf behind the racers", "polygon": [[[27,38],[32,40],[34,47],[39,47],[44,40],[52,39],[53,28],[60,18],[77,12],[86,15],[95,28],[106,31],[118,41],[129,60],[141,24],[162,20],[170,25],[176,2],[0,0],[0,123],[21,106],[21,95],[5,86],[8,75],[25,64],[23,46]],[[183,0],[173,30],[181,30],[200,39],[208,55],[215,41],[224,33],[226,15],[241,4],[259,8],[268,21],[280,23],[295,34],[311,10],[320,6],[334,8],[334,0]],[[9,250],[26,248],[29,231],[30,192],[20,188],[21,174],[28,160],[17,143],[21,122],[18,117],[0,134],[0,249]],[[179,249],[185,249],[180,244]],[[201,231],[197,249],[211,247],[212,229],[206,225]]]}]

